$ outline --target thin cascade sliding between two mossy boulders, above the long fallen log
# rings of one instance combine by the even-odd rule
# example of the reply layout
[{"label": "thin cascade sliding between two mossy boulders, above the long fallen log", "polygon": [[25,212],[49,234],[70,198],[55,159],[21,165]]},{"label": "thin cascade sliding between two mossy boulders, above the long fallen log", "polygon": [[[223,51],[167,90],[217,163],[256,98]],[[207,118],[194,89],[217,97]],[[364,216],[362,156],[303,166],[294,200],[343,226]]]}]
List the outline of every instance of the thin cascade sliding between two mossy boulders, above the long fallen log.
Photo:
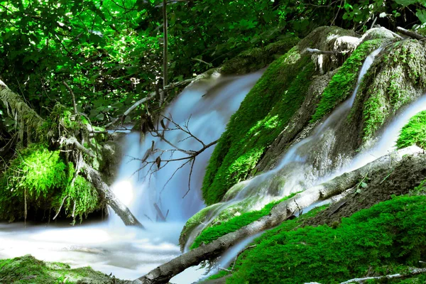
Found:
[{"label": "thin cascade sliding between two mossy boulders, above the long fallen log", "polygon": [[200,231],[213,222],[224,209],[247,209],[247,204],[251,204],[252,210],[261,209],[269,202],[312,187],[329,175],[333,170],[332,165],[322,163],[318,166],[315,163],[318,160],[329,160],[328,152],[330,145],[334,143],[335,131],[349,114],[361,80],[381,50],[382,48],[374,50],[364,61],[351,97],[334,109],[332,114],[312,131],[311,136],[291,146],[275,169],[234,185],[224,196],[224,202],[214,209],[209,221],[192,230],[185,251]]}]

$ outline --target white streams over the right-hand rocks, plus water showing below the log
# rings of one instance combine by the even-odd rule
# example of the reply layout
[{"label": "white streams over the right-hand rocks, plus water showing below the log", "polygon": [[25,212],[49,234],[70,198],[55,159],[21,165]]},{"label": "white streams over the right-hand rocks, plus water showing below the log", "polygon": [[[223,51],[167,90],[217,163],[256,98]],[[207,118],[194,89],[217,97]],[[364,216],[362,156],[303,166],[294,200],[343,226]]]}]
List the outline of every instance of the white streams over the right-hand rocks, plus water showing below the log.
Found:
[{"label": "white streams over the right-hand rocks, plus water showing below the log", "polygon": [[[417,99],[416,102],[413,102],[413,104],[401,110],[391,123],[383,129],[381,135],[376,138],[375,143],[371,143],[371,148],[355,155],[354,158],[350,158],[347,163],[342,163],[338,168],[333,168],[331,163],[322,163],[322,168],[320,169],[315,168],[313,165],[316,157],[315,154],[312,155],[312,152],[314,152],[315,149],[321,149],[321,151],[319,151],[320,158],[326,161],[329,160],[327,158],[329,146],[335,142],[334,135],[336,129],[342,125],[342,121],[344,121],[349,114],[362,78],[373,63],[374,58],[381,53],[382,49],[383,48],[378,48],[374,50],[373,53],[366,58],[361,67],[356,88],[351,97],[334,109],[324,123],[316,127],[311,136],[290,147],[277,168],[263,173],[262,175],[258,175],[251,180],[239,182],[239,184],[232,187],[224,197],[224,202],[220,204],[219,207],[212,210],[209,220],[204,222],[204,224],[200,224],[191,232],[191,235],[187,239],[185,250],[188,250],[189,244],[200,234],[200,231],[213,222],[214,219],[218,217],[219,213],[226,208],[238,206],[240,202],[246,206],[247,202],[244,202],[244,200],[254,197],[256,202],[254,202],[252,209],[261,209],[265,204],[289,195],[291,192],[297,192],[318,185],[338,175],[342,175],[342,173],[361,168],[367,163],[380,158],[382,155],[395,150],[395,142],[400,133],[400,129],[408,123],[408,120],[412,116],[426,109],[426,95],[423,95],[420,99]],[[283,180],[285,182],[282,182]],[[306,213],[314,207],[329,202],[330,200],[316,202],[310,207],[305,208],[303,212]],[[258,236],[258,234],[256,236]],[[242,240],[234,248],[226,251],[212,264],[212,267],[204,269],[204,277],[201,278],[206,278],[208,275],[215,273],[215,268],[217,267],[226,268],[231,265],[239,251],[249,244],[256,236],[250,236]],[[201,269],[200,266],[199,268]],[[195,268],[188,268],[185,272],[194,273],[194,271]],[[201,273],[199,272],[199,274]]]}]

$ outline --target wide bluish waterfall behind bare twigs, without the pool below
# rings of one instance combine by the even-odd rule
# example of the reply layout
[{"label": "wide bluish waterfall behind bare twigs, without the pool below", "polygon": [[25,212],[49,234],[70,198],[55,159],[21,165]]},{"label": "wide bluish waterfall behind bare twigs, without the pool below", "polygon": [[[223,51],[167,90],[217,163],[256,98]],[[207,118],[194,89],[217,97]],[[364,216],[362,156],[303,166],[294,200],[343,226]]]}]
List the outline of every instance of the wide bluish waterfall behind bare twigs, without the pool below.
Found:
[{"label": "wide bluish waterfall behind bare twigs, without the pool below", "polygon": [[[146,158],[144,155],[153,145],[154,148],[171,153],[161,156],[164,165],[167,163],[165,159],[187,156],[187,153],[175,151],[176,148],[197,151],[203,147],[202,143],[207,145],[216,141],[224,132],[231,115],[239,108],[262,73],[263,71],[260,71],[240,77],[217,76],[187,87],[163,112],[163,116],[179,126],[187,126],[196,138],[181,130],[166,130],[164,137],[167,141],[155,137],[155,134],[153,136],[146,133],[141,136],[138,132],[132,132],[124,138],[124,160],[113,188],[138,219],[155,222],[159,220],[158,215],[162,214],[160,219],[165,217],[171,222],[186,222],[204,207],[200,188],[214,146],[197,155],[192,167],[191,163],[184,165],[185,160],[182,160],[170,162],[157,171],[156,165],[143,168],[141,160]],[[166,127],[173,129],[173,124],[165,121],[165,124],[169,122]],[[158,127],[159,131],[163,131],[161,124],[158,124]],[[197,141],[197,138],[202,143]],[[158,155],[160,154],[149,155],[147,160],[153,161]],[[120,223],[119,220],[114,220],[116,217],[112,219],[114,224]]]}]

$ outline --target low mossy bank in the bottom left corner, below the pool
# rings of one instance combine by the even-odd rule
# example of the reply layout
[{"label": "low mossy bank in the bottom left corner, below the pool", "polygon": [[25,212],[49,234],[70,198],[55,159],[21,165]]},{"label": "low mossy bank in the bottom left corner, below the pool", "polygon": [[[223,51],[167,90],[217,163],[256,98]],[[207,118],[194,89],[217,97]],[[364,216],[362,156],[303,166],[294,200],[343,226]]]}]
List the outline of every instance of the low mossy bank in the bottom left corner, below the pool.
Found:
[{"label": "low mossy bank in the bottom left corner, below the pool", "polygon": [[[81,281],[81,282],[80,282]],[[90,267],[71,269],[64,263],[39,261],[27,255],[0,260],[0,283],[8,284],[119,284],[124,281],[110,278]]]}]

